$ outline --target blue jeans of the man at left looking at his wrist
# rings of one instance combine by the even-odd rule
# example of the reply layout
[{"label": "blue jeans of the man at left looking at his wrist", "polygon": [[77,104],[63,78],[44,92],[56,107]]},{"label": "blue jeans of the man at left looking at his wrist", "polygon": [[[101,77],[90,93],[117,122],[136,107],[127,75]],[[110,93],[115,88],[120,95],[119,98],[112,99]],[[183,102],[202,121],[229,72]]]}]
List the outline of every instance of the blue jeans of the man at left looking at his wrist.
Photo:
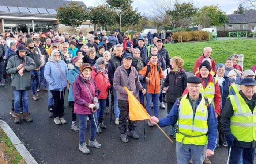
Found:
[{"label": "blue jeans of the man at left looking at his wrist", "polygon": [[14,112],[20,113],[20,97],[22,97],[23,113],[29,112],[29,90],[13,90]]}]

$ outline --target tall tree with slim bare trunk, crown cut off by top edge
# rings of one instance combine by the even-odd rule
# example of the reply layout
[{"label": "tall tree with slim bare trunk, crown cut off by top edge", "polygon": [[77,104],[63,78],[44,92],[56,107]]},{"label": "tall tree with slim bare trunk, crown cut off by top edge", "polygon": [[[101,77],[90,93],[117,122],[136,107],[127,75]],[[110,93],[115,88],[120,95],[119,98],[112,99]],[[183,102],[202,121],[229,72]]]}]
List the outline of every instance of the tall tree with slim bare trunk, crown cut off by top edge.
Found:
[{"label": "tall tree with slim bare trunk, crown cut off by top edge", "polygon": [[110,8],[116,11],[119,17],[120,32],[122,31],[121,16],[129,9],[133,0],[106,0]]}]

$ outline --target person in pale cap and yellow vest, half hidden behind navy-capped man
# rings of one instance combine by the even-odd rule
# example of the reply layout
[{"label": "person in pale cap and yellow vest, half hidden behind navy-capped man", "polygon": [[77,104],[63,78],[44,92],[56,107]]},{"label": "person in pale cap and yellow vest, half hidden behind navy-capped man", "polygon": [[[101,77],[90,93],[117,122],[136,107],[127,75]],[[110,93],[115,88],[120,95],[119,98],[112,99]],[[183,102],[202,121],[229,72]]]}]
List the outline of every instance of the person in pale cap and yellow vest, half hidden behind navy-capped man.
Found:
[{"label": "person in pale cap and yellow vest, half hidden behind navy-capped man", "polygon": [[241,77],[237,77],[236,84],[229,86],[229,95],[238,94],[240,90],[240,81],[246,77],[255,78],[255,73],[252,70],[244,70]]}]

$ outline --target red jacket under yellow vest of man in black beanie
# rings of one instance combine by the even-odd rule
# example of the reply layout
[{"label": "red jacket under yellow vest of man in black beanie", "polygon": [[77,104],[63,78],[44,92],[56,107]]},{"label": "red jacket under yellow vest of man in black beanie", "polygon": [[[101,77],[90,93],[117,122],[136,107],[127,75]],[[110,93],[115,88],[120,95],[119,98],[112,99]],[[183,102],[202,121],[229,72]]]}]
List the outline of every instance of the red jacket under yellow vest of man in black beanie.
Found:
[{"label": "red jacket under yellow vest of man in black beanie", "polygon": [[[208,85],[209,82],[214,82],[214,79],[211,74],[208,75],[209,80],[207,82],[207,85],[204,85],[204,80],[202,79],[200,72],[196,74],[196,77],[199,77],[202,80],[202,86],[205,88],[205,86]],[[215,85],[215,93],[214,93],[214,104],[215,104],[215,113],[218,115],[221,115],[221,90],[219,89],[218,81],[216,81]],[[186,88],[182,95],[188,94],[188,88]]]}]

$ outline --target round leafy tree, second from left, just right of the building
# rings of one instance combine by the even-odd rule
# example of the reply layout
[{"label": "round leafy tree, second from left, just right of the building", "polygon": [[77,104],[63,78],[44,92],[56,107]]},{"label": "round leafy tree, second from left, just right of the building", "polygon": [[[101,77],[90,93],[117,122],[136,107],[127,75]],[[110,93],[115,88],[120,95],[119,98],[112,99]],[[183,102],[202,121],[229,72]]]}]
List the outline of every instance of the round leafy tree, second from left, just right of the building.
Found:
[{"label": "round leafy tree, second from left, just right of the building", "polygon": [[115,16],[116,13],[106,5],[90,7],[89,19],[92,23],[98,24],[102,27],[116,23]]}]

